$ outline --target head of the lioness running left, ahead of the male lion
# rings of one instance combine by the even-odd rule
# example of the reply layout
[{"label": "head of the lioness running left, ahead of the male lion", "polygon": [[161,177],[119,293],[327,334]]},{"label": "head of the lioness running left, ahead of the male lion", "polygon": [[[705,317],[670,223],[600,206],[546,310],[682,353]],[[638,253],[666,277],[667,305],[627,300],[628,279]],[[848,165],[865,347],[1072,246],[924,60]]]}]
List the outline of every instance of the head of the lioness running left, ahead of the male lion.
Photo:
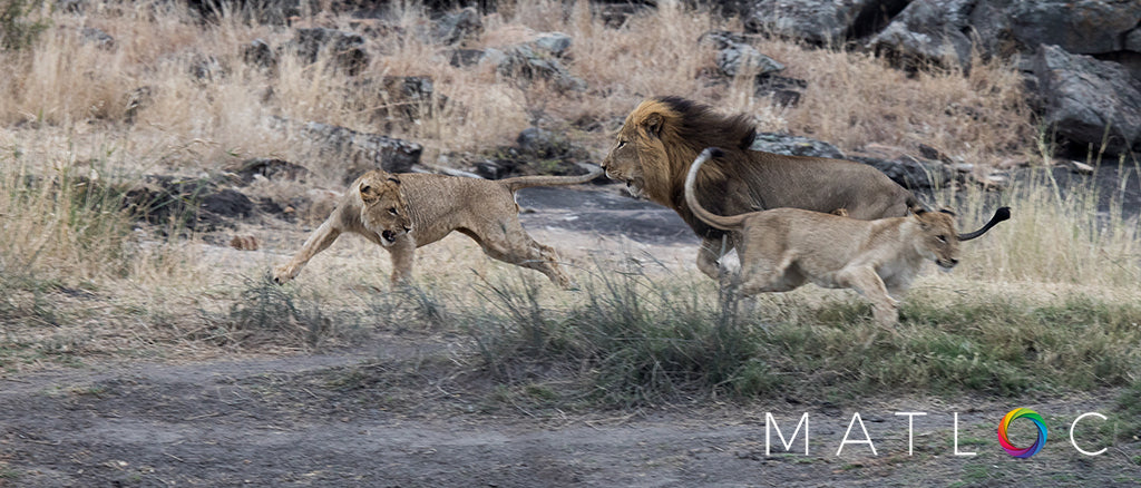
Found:
[{"label": "head of the lioness running left, ahead of the male lion", "polygon": [[383,171],[370,171],[357,186],[361,193],[361,222],[377,233],[380,244],[390,246],[396,238],[412,230],[407,204],[400,193],[400,180]]}]

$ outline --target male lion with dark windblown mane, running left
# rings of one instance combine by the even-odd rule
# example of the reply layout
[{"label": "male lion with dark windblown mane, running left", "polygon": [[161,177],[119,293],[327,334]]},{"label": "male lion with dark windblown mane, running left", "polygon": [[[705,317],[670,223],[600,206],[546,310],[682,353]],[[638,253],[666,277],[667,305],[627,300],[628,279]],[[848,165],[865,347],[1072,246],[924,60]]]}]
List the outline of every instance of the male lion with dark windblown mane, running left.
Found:
[{"label": "male lion with dark windblown mane, running left", "polygon": [[677,211],[703,239],[697,268],[714,279],[720,275],[720,253],[736,243],[730,234],[694,217],[685,198],[686,172],[706,147],[719,147],[722,154],[697,174],[697,200],[718,214],[790,206],[873,220],[904,217],[921,206],[911,192],[875,168],[752,151],[755,135],[745,115],[719,115],[679,97],[652,98],[626,116],[602,168],[612,179],[625,181],[636,196]]}]

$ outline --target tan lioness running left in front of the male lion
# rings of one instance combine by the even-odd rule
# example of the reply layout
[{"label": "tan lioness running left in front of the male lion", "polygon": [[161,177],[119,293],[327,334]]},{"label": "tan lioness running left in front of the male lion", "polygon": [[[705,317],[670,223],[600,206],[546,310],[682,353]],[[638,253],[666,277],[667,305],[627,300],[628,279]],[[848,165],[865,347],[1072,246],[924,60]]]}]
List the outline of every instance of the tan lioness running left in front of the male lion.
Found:
[{"label": "tan lioness running left in front of the male lion", "polygon": [[[442,174],[388,174],[378,170],[370,171],[349,187],[350,192],[341,198],[325,222],[309,236],[292,261],[274,270],[274,280],[285,283],[293,279],[316,253],[329,247],[341,233],[351,231],[385,246],[393,259],[391,280],[394,284],[403,283],[412,276],[416,247],[431,244],[458,230],[476,241],[487,255],[535,269],[559,286],[572,287],[570,278],[559,268],[555,250],[535,242],[519,223],[519,205],[515,203],[515,192],[532,186],[576,185],[590,181],[600,174],[599,169],[581,177],[484,180]],[[388,178],[399,181],[383,188],[387,192],[396,192],[406,202],[406,210],[397,212],[407,215],[408,222],[407,231],[390,235],[391,242],[377,231],[378,227],[364,223],[373,219],[378,225],[382,225],[382,221],[387,220],[386,215],[390,215],[390,208],[364,205],[359,192],[361,181],[387,181]]]}]

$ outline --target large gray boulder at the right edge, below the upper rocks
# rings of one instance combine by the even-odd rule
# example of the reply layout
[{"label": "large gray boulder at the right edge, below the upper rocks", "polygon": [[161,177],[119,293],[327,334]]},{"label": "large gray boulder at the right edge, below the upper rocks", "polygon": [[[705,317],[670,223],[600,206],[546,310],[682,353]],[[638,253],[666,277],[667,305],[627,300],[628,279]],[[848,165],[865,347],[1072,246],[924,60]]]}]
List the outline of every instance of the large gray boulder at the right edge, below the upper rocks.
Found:
[{"label": "large gray boulder at the right edge, below the upper rocks", "polygon": [[1042,46],[1031,59],[1043,121],[1084,152],[1141,148],[1141,81],[1116,63]]}]

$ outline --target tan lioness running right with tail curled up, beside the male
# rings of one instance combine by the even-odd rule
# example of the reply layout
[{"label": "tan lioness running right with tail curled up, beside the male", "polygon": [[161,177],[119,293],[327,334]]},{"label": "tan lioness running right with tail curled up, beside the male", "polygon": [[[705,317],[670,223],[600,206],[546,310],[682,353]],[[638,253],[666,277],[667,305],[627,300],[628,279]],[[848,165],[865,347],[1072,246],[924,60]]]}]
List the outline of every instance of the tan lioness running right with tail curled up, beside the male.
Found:
[{"label": "tan lioness running right with tail curled up, beside the male", "polygon": [[856,220],[800,209],[772,209],[718,215],[697,202],[694,181],[702,164],[717,156],[705,149],[686,177],[686,203],[705,223],[728,230],[737,243],[741,274],[731,286],[743,295],[787,292],[812,282],[827,288],[853,288],[872,302],[883,325],[898,320],[897,300],[924,261],[945,269],[958,263],[958,243],[973,239],[1003,220],[1002,208],[981,229],[958,234],[949,212],[916,210],[909,217]]}]

